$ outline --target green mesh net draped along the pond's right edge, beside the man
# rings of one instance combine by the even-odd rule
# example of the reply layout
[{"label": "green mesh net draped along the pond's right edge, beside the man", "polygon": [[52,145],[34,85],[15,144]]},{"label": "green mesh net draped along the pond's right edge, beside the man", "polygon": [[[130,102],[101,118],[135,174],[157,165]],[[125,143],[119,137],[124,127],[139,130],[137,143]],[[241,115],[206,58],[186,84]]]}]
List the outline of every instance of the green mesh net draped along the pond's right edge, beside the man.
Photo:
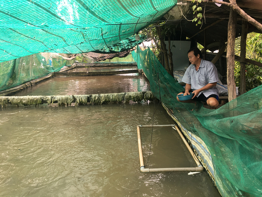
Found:
[{"label": "green mesh net draped along the pond's right edge, beside the man", "polygon": [[148,77],[153,94],[208,147],[221,195],[262,196],[262,86],[210,110],[201,102],[194,106],[176,100],[184,88],[150,49],[138,47],[132,55]]}]

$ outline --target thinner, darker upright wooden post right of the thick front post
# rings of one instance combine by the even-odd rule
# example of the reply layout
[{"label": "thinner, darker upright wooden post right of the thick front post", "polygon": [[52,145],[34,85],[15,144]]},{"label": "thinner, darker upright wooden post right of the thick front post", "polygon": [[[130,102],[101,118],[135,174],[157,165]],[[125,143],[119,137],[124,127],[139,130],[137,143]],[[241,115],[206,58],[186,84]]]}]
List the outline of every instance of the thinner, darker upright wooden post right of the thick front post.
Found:
[{"label": "thinner, darker upright wooden post right of the thick front post", "polygon": [[242,20],[242,34],[241,34],[241,41],[240,41],[240,94],[244,94],[246,92],[245,59],[246,59],[247,31],[248,31],[248,22]]}]

